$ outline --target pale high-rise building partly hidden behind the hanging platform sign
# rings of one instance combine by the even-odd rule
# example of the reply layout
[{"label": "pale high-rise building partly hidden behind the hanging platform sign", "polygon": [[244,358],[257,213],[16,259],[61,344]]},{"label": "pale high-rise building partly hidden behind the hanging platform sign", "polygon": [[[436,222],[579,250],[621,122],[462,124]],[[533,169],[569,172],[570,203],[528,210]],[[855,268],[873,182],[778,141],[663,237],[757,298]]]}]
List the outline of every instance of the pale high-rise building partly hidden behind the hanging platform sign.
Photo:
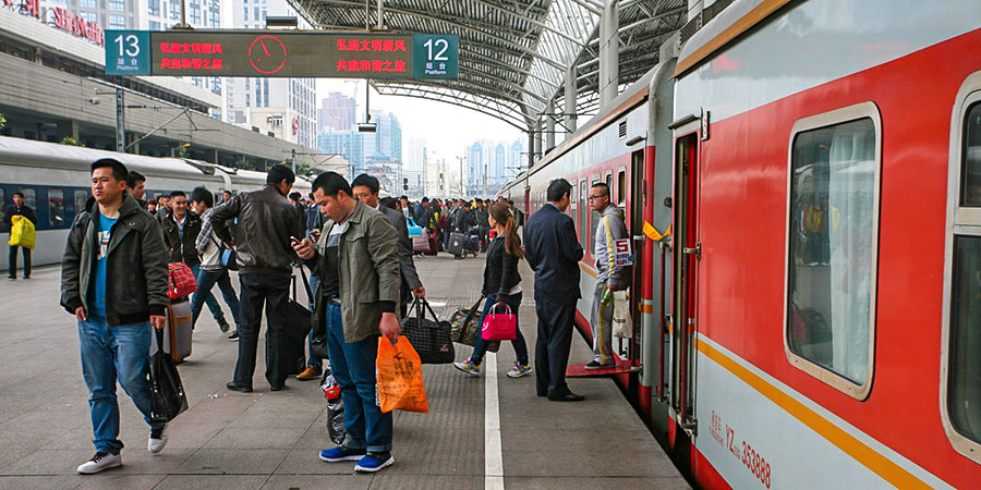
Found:
[{"label": "pale high-rise building partly hidden behind the hanging platform sign", "polygon": [[[310,28],[287,0],[234,0],[228,4],[232,5],[231,26],[235,28],[264,29],[268,15],[295,16],[300,28]],[[281,131],[283,139],[317,147],[314,78],[228,78],[226,85],[226,122]]]}]

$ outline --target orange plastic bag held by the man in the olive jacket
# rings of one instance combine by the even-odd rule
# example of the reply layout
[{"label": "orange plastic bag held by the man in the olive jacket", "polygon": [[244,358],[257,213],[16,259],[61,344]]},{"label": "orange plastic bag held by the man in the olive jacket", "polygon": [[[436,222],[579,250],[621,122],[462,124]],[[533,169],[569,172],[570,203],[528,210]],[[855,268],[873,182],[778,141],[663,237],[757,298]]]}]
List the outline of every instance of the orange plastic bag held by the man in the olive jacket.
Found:
[{"label": "orange plastic bag held by the man in the olive jacket", "polygon": [[378,339],[378,402],[382,412],[393,409],[429,413],[426,387],[422,381],[422,360],[409,339],[399,335],[395,345],[387,338]]}]

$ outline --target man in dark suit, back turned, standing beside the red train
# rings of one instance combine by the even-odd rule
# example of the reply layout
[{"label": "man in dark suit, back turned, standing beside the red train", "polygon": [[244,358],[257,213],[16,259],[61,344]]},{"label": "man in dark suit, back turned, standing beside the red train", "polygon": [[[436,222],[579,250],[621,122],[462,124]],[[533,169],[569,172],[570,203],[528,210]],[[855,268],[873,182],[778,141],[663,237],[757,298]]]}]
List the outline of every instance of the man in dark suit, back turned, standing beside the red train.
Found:
[{"label": "man in dark suit, back turned, standing beside the red train", "polygon": [[535,271],[535,388],[538,396],[553,402],[580,402],[566,384],[566,366],[572,345],[572,322],[579,302],[579,261],[582,246],[576,236],[569,207],[572,185],[565,179],[548,184],[548,203],[532,215],[524,226],[525,258]]}]

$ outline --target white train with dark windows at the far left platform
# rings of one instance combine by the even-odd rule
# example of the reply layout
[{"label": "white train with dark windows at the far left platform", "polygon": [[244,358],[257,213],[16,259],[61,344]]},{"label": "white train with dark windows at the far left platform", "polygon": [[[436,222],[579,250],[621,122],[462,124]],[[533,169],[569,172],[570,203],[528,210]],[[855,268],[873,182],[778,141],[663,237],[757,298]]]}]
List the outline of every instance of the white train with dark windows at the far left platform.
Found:
[{"label": "white train with dark windows at the far left platform", "polygon": [[[61,262],[69,226],[84,209],[89,192],[89,166],[100,158],[114,158],[146,176],[147,196],[156,198],[172,191],[190,191],[204,185],[220,193],[255,191],[266,183],[265,172],[231,169],[186,158],[157,158],[142,155],[59,145],[0,136],[0,212],[13,204],[16,192],[37,213],[37,246],[32,265]],[[293,188],[301,194],[311,182],[298,179]],[[8,268],[7,242],[10,228],[0,223],[0,270]],[[21,259],[17,265],[22,267]]]}]

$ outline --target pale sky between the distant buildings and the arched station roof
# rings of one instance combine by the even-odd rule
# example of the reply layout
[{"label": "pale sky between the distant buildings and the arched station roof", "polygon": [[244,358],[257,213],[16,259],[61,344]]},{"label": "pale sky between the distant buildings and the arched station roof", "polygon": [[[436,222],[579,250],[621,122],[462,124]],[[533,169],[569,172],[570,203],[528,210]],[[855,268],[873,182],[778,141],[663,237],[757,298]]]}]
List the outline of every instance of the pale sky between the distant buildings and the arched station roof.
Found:
[{"label": "pale sky between the distant buildings and the arched station roof", "polygon": [[[317,79],[317,103],[331,91],[355,97],[358,110],[355,119],[364,121],[365,81]],[[432,157],[456,160],[465,155],[465,146],[475,139],[499,139],[513,142],[526,139],[528,135],[513,126],[470,109],[446,102],[416,99],[412,97],[383,96],[372,90],[371,109],[391,112],[402,127],[402,142],[423,138]],[[431,157],[431,158],[432,158]]]}]

